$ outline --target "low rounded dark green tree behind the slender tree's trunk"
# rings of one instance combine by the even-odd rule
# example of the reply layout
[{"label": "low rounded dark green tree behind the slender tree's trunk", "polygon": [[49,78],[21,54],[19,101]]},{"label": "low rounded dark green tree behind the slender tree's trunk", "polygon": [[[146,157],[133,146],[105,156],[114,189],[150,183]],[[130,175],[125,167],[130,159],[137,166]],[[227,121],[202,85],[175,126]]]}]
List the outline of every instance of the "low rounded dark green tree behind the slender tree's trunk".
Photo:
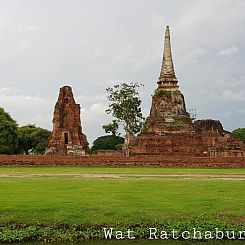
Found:
[{"label": "low rounded dark green tree behind the slender tree's trunk", "polygon": [[124,143],[124,138],[116,135],[105,135],[98,137],[91,147],[92,151],[118,150],[119,145]]}]

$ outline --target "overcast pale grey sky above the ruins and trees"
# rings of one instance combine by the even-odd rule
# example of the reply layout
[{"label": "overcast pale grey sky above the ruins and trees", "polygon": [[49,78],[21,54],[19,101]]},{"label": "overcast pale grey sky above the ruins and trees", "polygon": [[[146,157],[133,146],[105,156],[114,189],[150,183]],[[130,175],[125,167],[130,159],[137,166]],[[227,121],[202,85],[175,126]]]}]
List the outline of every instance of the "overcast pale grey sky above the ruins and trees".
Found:
[{"label": "overcast pale grey sky above the ruins and trees", "polygon": [[0,0],[0,107],[51,130],[70,85],[91,143],[110,120],[106,87],[138,81],[147,116],[169,25],[187,108],[245,127],[244,13],[244,0]]}]

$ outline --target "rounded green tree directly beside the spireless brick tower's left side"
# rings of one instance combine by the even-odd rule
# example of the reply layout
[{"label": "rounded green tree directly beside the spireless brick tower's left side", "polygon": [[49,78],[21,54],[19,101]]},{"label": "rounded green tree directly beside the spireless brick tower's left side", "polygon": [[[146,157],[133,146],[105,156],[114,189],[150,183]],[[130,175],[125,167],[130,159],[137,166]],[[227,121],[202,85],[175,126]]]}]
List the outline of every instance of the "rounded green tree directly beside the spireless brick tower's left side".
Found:
[{"label": "rounded green tree directly beside the spireless brick tower's left side", "polygon": [[18,128],[19,153],[43,154],[49,141],[50,131],[28,124]]}]

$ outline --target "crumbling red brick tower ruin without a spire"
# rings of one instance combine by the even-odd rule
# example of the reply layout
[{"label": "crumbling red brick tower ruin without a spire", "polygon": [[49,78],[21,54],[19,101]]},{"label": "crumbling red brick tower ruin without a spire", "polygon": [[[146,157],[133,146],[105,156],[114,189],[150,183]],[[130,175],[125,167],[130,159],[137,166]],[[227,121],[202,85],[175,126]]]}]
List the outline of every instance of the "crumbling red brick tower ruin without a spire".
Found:
[{"label": "crumbling red brick tower ruin without a spire", "polygon": [[76,104],[69,86],[60,88],[54,109],[53,131],[46,154],[85,155],[89,152],[87,137],[82,132],[80,105]]}]

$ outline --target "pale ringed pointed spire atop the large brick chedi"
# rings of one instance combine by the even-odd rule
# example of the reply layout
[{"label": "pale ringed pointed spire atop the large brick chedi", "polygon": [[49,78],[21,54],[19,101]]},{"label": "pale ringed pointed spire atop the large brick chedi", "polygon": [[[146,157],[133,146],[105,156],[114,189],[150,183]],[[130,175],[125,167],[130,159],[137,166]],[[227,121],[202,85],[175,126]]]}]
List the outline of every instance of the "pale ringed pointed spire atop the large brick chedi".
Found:
[{"label": "pale ringed pointed spire atop the large brick chedi", "polygon": [[163,50],[163,60],[158,80],[158,87],[166,90],[177,90],[177,78],[174,72],[174,65],[171,53],[169,26],[166,27]]}]

